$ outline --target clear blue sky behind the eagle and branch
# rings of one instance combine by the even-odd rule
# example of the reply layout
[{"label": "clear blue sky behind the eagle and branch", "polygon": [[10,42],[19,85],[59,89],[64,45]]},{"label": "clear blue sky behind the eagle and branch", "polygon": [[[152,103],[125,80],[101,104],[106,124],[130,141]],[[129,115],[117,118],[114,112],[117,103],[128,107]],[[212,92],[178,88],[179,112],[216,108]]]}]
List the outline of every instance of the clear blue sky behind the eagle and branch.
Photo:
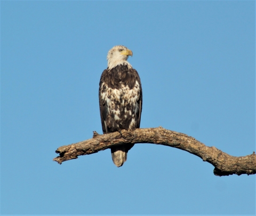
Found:
[{"label": "clear blue sky behind the eagle and branch", "polygon": [[254,1],[1,1],[1,213],[255,214],[255,176],[213,175],[188,152],[137,144],[53,162],[102,133],[98,88],[115,45],[143,89],[141,128],[255,151]]}]

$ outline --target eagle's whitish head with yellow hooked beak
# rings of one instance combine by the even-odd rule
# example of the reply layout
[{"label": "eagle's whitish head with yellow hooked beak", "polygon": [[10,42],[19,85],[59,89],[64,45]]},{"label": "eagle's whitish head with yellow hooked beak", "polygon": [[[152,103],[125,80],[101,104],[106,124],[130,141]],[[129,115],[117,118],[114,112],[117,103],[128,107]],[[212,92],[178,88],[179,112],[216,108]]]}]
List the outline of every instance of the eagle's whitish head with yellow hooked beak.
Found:
[{"label": "eagle's whitish head with yellow hooked beak", "polygon": [[132,65],[127,62],[129,55],[132,56],[132,51],[125,46],[118,45],[108,51],[108,69],[115,68],[119,64],[127,65],[128,68],[132,68]]}]

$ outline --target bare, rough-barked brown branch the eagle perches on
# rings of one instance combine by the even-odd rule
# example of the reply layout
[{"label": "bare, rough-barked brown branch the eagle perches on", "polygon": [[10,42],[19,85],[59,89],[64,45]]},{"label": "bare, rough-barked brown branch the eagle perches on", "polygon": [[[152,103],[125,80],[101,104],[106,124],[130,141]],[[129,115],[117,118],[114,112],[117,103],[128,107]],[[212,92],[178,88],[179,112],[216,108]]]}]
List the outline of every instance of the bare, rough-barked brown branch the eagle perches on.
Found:
[{"label": "bare, rough-barked brown branch the eagle perches on", "polygon": [[53,161],[61,164],[64,161],[77,159],[80,155],[94,154],[103,151],[114,145],[127,143],[152,143],[179,148],[201,157],[203,161],[211,163],[215,168],[215,176],[228,175],[252,175],[256,173],[256,155],[236,157],[220,151],[214,146],[208,147],[193,137],[179,132],[158,128],[140,128],[133,131],[122,130],[111,134],[99,135],[93,132],[93,138],[79,143],[61,146],[55,152],[60,156],[55,157]]}]

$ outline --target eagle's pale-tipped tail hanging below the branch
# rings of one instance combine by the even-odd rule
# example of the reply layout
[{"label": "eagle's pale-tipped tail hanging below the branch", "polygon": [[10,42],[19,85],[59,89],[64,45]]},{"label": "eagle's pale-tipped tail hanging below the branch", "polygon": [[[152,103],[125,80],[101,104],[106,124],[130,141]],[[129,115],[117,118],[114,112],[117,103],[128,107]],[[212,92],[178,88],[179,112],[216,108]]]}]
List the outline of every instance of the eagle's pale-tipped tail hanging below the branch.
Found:
[{"label": "eagle's pale-tipped tail hanging below the branch", "polygon": [[126,146],[121,145],[111,148],[112,160],[117,167],[122,167],[127,160],[127,152]]}]

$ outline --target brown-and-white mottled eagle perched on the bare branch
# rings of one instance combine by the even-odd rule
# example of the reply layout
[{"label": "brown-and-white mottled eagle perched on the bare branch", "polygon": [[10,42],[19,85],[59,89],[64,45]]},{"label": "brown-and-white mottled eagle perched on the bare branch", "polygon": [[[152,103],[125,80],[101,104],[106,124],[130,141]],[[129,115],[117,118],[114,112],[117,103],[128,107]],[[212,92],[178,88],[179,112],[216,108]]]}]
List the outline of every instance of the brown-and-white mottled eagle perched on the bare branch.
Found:
[{"label": "brown-and-white mottled eagle perched on the bare branch", "polygon": [[[138,72],[127,62],[132,51],[118,45],[107,54],[108,68],[100,77],[99,104],[103,134],[140,127],[142,88]],[[114,164],[121,167],[134,144],[111,147]]]}]

